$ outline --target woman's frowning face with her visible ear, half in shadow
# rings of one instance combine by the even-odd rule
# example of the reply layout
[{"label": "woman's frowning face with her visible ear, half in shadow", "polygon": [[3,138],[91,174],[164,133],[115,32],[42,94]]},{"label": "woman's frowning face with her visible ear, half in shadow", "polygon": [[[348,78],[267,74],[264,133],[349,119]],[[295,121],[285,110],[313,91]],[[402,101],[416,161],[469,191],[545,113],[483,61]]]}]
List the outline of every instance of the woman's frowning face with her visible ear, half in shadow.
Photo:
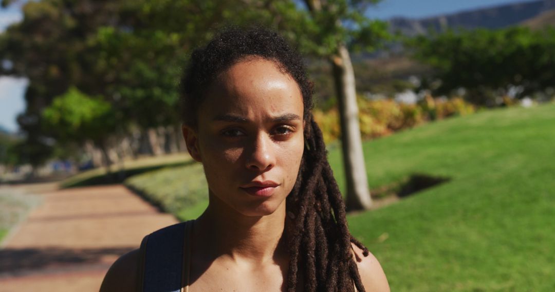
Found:
[{"label": "woman's frowning face with her visible ear, half in shadow", "polygon": [[[198,127],[185,128],[211,194],[245,216],[285,207],[304,150],[299,86],[275,62],[240,61],[208,88]],[[212,204],[212,202],[211,202]]]}]

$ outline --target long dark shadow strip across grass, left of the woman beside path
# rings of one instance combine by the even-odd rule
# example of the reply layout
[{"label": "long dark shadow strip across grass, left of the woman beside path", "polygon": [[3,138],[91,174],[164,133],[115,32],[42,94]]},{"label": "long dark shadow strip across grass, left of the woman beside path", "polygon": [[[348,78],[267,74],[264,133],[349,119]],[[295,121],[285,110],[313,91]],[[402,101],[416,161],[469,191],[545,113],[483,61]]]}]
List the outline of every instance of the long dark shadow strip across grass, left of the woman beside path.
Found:
[{"label": "long dark shadow strip across grass, left of the woman beside path", "polygon": [[149,165],[149,166],[123,169],[123,170],[116,169],[112,173],[99,174],[82,180],[71,181],[71,178],[69,178],[70,181],[62,184],[61,187],[62,189],[68,189],[70,187],[121,184],[124,180],[134,175],[147,173],[148,171],[158,170],[162,168],[174,168],[179,166],[186,166],[186,165],[193,164],[194,162],[195,162],[194,160],[190,160],[190,161],[184,161],[179,163]]}]

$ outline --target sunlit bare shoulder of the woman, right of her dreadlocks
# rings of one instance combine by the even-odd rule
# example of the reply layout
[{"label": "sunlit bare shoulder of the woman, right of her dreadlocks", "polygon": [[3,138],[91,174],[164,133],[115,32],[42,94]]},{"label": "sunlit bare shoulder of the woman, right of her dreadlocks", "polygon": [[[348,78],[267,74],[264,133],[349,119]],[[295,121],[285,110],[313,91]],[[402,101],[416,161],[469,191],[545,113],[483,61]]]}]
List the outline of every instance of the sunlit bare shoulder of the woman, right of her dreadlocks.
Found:
[{"label": "sunlit bare shoulder of the woman, right of her dreadlocks", "polygon": [[366,257],[362,254],[362,249],[352,244],[354,251],[353,257],[357,267],[359,268],[362,285],[369,292],[389,292],[389,284],[385,277],[384,269],[380,262],[370,253]]}]

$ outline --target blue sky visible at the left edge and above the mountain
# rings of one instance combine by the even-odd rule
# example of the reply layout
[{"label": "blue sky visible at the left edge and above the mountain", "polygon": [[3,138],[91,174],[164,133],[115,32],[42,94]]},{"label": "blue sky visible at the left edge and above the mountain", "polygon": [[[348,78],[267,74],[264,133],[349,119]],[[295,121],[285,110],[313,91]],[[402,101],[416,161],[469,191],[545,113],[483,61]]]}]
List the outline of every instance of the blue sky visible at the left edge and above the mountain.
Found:
[{"label": "blue sky visible at the left edge and above the mountain", "polygon": [[[27,0],[19,0],[6,9],[0,8],[0,33],[6,27],[22,19],[21,6]],[[533,0],[382,0],[370,7],[366,15],[370,18],[392,17],[424,18],[450,14],[498,4],[531,2]],[[24,108],[23,95],[28,81],[12,77],[0,77],[0,126],[9,131],[18,129],[16,118]]]}]

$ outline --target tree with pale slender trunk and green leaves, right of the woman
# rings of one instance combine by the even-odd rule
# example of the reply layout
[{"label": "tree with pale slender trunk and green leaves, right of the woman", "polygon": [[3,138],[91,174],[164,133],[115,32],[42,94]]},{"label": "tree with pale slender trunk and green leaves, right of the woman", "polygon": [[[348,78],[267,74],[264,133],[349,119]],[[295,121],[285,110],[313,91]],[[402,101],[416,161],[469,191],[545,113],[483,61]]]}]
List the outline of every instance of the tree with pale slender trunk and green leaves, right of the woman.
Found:
[{"label": "tree with pale slender trunk and green leaves, right of the woman", "polygon": [[[350,210],[370,208],[364,153],[356,103],[355,72],[349,49],[375,49],[387,39],[386,24],[365,17],[367,8],[380,0],[304,0],[306,9],[291,6],[275,8],[287,19],[275,24],[293,32],[300,48],[325,58],[332,67],[340,110],[341,146],[347,182],[346,205]],[[289,9],[287,9],[289,8]]]}]

